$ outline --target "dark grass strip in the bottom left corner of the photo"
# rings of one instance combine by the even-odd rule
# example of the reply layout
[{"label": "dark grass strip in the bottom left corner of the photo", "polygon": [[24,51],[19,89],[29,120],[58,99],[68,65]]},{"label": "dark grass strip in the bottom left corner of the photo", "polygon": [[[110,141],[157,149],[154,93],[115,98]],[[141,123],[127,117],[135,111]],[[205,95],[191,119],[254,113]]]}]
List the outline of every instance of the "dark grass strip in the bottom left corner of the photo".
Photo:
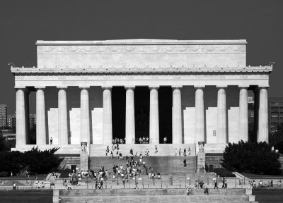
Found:
[{"label": "dark grass strip in the bottom left corner of the photo", "polygon": [[51,203],[52,190],[0,190],[0,202],[5,203]]}]

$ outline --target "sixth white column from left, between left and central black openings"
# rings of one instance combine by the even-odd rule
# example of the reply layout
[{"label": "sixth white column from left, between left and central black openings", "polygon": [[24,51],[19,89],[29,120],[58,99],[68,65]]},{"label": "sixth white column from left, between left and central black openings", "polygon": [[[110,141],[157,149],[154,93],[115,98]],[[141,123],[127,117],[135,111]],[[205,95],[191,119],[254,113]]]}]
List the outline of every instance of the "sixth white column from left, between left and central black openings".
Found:
[{"label": "sixth white column from left, between left and central black openings", "polygon": [[134,87],[126,89],[126,144],[134,144]]}]

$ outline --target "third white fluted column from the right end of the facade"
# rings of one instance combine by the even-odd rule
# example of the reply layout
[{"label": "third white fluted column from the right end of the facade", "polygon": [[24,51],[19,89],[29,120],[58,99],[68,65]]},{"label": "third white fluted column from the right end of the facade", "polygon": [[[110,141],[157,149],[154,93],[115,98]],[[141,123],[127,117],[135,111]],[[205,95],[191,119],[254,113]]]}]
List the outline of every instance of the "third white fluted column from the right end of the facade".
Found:
[{"label": "third white fluted column from the right end of the facade", "polygon": [[226,92],[224,87],[218,87],[217,94],[217,143],[226,144],[227,123],[226,123]]}]

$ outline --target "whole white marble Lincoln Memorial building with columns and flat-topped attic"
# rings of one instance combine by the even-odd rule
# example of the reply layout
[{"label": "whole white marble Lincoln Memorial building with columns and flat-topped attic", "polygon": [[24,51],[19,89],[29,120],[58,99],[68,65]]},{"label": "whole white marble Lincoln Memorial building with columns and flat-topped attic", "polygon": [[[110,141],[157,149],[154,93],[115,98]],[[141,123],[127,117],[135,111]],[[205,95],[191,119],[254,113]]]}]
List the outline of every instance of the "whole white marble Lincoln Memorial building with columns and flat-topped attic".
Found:
[{"label": "whole white marble Lincoln Memorial building with columns and flat-topped attic", "polygon": [[[155,156],[184,147],[197,156],[200,143],[205,153],[221,153],[227,143],[249,139],[249,91],[255,137],[268,142],[272,66],[247,66],[246,46],[243,39],[37,41],[37,67],[11,67],[13,150],[60,147],[60,154],[80,154],[81,168],[88,157],[105,156],[115,137],[125,140],[125,155],[131,148],[154,153],[156,145]],[[36,92],[36,144],[28,143],[30,92]],[[139,137],[149,144],[137,144]]]}]

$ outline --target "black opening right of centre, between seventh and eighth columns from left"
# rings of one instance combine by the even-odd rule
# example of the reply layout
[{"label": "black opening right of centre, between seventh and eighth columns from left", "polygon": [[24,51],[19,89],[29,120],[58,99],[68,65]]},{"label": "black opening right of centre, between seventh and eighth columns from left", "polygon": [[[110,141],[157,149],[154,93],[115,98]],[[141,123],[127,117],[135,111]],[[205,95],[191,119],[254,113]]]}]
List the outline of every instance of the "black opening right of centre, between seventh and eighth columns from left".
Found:
[{"label": "black opening right of centre, between seventh and eighth columns from left", "polygon": [[167,143],[172,143],[172,88],[160,87],[158,90],[159,105],[159,143],[167,137]]}]

